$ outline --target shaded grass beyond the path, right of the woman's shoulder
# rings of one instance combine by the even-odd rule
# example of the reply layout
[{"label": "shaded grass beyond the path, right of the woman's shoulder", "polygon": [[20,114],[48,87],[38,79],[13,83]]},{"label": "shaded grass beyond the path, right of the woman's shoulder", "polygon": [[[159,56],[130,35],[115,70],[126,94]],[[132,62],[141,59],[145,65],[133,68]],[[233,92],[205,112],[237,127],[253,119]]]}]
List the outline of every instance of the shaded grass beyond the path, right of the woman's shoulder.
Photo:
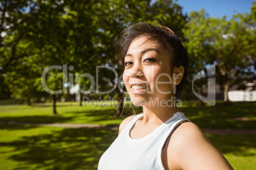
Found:
[{"label": "shaded grass beyond the path, right of the woman's shoulder", "polygon": [[[214,107],[180,108],[188,119],[200,128],[256,129],[256,102],[239,102],[225,105],[217,103]],[[232,118],[247,117],[250,121],[236,121]]]}]

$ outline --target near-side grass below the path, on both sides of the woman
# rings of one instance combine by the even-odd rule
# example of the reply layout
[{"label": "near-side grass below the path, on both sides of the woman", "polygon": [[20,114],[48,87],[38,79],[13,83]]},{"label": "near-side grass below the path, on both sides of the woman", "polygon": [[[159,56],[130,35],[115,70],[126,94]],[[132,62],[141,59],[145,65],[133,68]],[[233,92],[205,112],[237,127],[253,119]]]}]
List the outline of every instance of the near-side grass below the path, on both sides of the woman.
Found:
[{"label": "near-side grass below the path, on both sides of the woman", "polygon": [[[12,134],[9,134],[8,129]],[[1,126],[0,169],[97,169],[117,131]],[[256,136],[207,134],[235,169],[253,169]]]}]

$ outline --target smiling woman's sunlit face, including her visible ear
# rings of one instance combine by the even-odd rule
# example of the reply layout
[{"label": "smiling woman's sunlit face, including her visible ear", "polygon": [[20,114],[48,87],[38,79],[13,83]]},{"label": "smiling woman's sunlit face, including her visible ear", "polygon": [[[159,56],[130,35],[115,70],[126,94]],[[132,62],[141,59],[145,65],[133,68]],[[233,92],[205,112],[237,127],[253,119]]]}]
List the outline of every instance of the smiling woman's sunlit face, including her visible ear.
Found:
[{"label": "smiling woman's sunlit face, including her visible ear", "polygon": [[173,96],[171,54],[157,41],[134,39],[124,58],[123,81],[134,105],[159,105]]}]

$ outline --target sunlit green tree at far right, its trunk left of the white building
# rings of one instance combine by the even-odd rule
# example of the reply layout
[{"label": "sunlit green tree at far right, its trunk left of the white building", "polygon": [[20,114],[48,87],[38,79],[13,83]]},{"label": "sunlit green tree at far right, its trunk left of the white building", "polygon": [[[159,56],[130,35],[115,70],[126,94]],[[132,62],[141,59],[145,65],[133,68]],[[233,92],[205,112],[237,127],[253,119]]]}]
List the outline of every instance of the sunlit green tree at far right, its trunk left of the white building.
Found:
[{"label": "sunlit green tree at far right, its trunk left of the white building", "polygon": [[227,92],[234,80],[255,72],[252,70],[255,23],[246,19],[251,18],[249,16],[238,14],[226,20],[225,17],[210,18],[204,10],[190,13],[186,30],[188,51],[201,67],[208,64],[217,67],[217,80],[224,89],[224,101],[227,102]]}]

